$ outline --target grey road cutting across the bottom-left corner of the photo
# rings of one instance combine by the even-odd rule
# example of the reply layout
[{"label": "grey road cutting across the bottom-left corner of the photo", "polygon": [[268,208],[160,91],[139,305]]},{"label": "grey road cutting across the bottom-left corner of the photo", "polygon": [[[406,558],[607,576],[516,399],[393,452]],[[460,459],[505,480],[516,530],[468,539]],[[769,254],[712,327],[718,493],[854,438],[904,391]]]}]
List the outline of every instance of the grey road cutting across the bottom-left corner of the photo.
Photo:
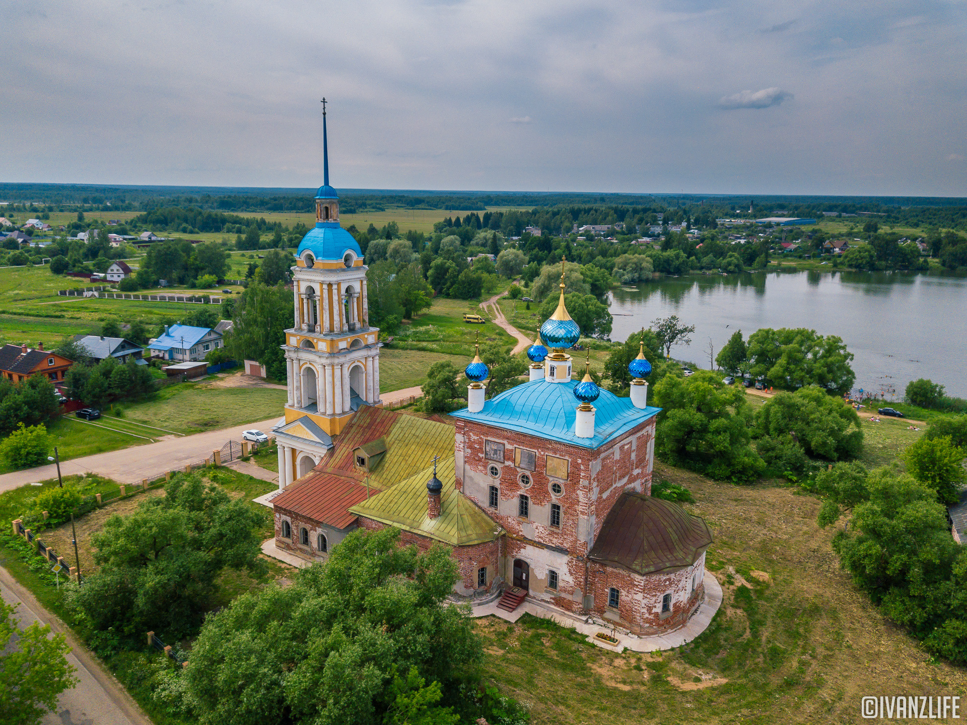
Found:
[{"label": "grey road cutting across the bottom-left corner of the photo", "polygon": [[15,617],[21,627],[40,620],[42,624],[49,624],[55,633],[66,634],[73,648],[67,658],[77,668],[74,677],[79,681],[73,689],[61,693],[57,709],[44,716],[43,725],[151,725],[151,720],[124,688],[86,649],[77,645],[64,623],[47,612],[3,567],[0,567],[0,596],[8,604],[19,604]]}]

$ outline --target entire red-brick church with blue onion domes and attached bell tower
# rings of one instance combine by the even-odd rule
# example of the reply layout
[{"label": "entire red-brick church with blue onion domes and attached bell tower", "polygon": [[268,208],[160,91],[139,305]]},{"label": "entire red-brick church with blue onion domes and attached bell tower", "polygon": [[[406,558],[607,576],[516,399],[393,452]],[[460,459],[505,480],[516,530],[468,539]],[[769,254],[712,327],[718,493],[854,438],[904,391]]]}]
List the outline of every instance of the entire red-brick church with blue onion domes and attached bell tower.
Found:
[{"label": "entire red-brick church with blue onion domes and attached bell tower", "polygon": [[705,595],[712,535],[650,496],[659,408],[647,405],[644,355],[629,365],[630,398],[600,389],[589,362],[572,379],[566,350],[580,330],[562,274],[557,310],[527,351],[528,381],[487,400],[477,355],[467,408],[428,419],[380,408],[366,266],[338,226],[328,159],[325,174],[294,268],[277,547],[324,560],[352,530],[396,527],[404,543],[450,548],[457,599],[502,595],[505,609],[537,599],[642,635],[687,622]]}]

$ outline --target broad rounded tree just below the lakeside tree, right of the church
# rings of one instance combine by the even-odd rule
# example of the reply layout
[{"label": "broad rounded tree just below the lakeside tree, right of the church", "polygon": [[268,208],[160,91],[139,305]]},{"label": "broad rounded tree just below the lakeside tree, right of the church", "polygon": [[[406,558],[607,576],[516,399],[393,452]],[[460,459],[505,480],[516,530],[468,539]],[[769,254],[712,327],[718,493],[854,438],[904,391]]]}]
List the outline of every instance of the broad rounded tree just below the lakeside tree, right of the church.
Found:
[{"label": "broad rounded tree just below the lakeside tree, right of the church", "polygon": [[755,413],[753,438],[791,436],[810,456],[829,461],[863,452],[863,431],[856,410],[816,385],[780,392]]}]

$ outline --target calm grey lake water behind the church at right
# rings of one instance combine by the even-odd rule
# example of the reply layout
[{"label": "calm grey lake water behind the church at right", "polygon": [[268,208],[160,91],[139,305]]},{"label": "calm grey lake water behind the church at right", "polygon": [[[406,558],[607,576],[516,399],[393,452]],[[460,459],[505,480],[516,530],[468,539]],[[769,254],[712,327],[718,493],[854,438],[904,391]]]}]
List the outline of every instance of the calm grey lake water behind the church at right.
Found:
[{"label": "calm grey lake water behind the church at right", "polygon": [[967,278],[909,272],[751,272],[664,278],[615,289],[611,339],[624,341],[657,317],[695,325],[672,357],[709,367],[741,329],[808,327],[838,335],[855,355],[854,388],[902,398],[907,382],[930,378],[967,398]]}]

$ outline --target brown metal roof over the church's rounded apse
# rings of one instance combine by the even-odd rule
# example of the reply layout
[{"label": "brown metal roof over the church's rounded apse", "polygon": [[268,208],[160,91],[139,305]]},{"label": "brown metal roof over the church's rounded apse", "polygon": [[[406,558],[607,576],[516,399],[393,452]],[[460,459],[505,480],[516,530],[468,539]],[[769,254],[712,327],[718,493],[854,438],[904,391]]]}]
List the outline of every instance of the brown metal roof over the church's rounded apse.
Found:
[{"label": "brown metal roof over the church's rounded apse", "polygon": [[711,543],[705,520],[678,503],[626,493],[608,511],[588,558],[652,574],[690,566]]}]

